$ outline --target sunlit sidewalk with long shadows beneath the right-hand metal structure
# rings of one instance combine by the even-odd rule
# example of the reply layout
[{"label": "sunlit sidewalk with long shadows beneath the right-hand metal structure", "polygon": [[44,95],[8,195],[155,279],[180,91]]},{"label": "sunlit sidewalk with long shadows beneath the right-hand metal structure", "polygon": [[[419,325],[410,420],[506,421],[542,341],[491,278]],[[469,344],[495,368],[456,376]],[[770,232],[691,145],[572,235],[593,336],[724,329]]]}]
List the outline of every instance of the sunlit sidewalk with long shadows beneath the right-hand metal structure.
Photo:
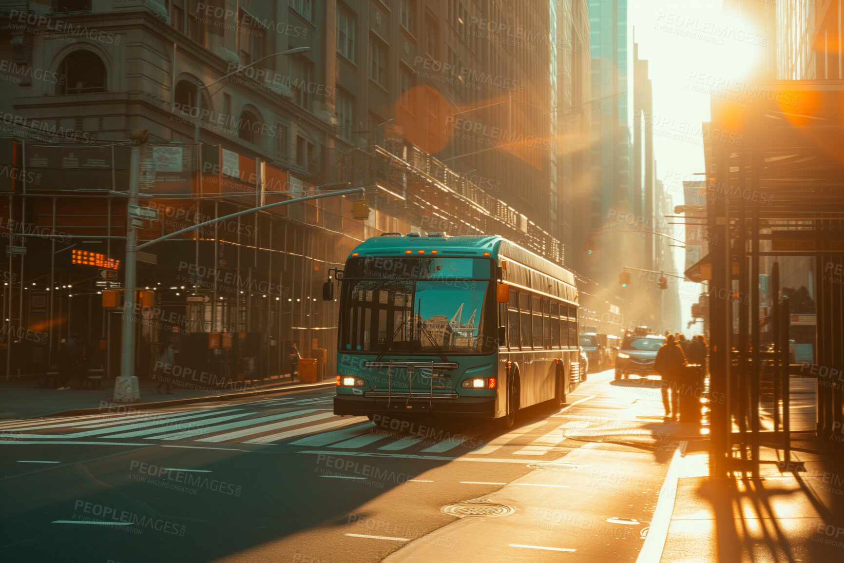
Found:
[{"label": "sunlit sidewalk with long shadows beneath the right-hand metal structure", "polygon": [[[762,448],[761,458],[782,460],[782,451]],[[763,463],[756,481],[711,479],[708,452],[687,452],[661,561],[844,560],[844,458],[793,451],[792,462]]]}]

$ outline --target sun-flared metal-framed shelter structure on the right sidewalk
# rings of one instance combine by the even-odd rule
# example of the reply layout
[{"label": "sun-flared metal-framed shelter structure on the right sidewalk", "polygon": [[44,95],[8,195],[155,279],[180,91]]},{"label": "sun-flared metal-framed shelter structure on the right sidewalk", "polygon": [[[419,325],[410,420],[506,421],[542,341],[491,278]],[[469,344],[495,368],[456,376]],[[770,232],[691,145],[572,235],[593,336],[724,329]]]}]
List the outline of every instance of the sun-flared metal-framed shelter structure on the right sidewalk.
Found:
[{"label": "sun-flared metal-framed shelter structure on the right sidewalk", "polygon": [[[758,477],[777,461],[760,447],[788,461],[844,445],[844,82],[727,94],[704,129],[710,470]],[[798,284],[809,300],[787,295]],[[795,346],[812,313],[814,343]]]}]

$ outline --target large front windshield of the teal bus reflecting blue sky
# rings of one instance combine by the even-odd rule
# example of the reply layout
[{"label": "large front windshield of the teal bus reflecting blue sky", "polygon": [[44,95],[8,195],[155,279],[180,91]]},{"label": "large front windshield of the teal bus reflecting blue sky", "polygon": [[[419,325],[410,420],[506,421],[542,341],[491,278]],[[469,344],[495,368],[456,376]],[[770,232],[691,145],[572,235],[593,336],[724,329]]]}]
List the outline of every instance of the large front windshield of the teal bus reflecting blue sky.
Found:
[{"label": "large front windshield of the teal bus reflecting blue sky", "polygon": [[476,279],[348,280],[339,349],[377,354],[492,352],[495,304],[489,286],[489,281]]}]

